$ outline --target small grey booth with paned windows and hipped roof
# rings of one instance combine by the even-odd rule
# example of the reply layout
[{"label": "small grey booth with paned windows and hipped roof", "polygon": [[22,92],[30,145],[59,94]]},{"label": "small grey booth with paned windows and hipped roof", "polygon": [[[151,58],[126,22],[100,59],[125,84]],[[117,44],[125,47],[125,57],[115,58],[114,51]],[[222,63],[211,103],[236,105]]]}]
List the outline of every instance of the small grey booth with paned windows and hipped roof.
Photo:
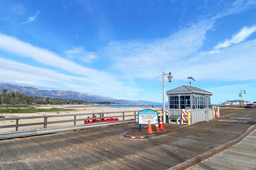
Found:
[{"label": "small grey booth with paned windows and hipped roof", "polygon": [[181,86],[166,92],[168,117],[181,115],[182,109],[191,109],[191,124],[211,119],[211,96],[213,93],[191,86]]}]

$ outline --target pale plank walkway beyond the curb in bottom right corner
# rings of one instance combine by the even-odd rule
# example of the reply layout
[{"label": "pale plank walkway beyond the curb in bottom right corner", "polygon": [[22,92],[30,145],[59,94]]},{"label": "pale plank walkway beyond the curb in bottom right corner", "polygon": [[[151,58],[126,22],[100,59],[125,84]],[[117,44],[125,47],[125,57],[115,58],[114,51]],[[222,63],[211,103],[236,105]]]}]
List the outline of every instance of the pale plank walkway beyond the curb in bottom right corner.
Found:
[{"label": "pale plank walkway beyond the curb in bottom right corner", "polygon": [[236,145],[187,170],[256,169],[256,130]]}]

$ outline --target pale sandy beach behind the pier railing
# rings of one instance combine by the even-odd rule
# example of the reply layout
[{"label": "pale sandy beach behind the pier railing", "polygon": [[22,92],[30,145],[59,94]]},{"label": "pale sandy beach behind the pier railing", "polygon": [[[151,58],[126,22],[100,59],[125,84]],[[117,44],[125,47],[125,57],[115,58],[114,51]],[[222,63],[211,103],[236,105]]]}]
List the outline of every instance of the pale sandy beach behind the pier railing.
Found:
[{"label": "pale sandy beach behind the pier railing", "polygon": [[[59,109],[74,109],[73,111],[62,111],[62,112],[39,112],[39,113],[6,113],[1,114],[1,116],[5,116],[6,118],[9,117],[27,117],[27,116],[43,116],[43,115],[61,115],[61,114],[76,114],[76,113],[97,113],[97,112],[120,112],[120,113],[114,113],[114,114],[105,114],[104,116],[111,116],[112,118],[119,118],[122,120],[122,112],[123,111],[140,111],[144,109],[152,109],[152,108],[145,108],[145,107],[128,107],[128,108],[116,108],[115,105],[113,105],[113,108],[109,107],[93,107],[93,106],[86,106],[86,105],[43,105],[37,107],[37,109],[44,108],[44,109],[51,109],[51,108],[59,108]],[[157,108],[154,108],[157,109]],[[134,112],[125,113],[125,115],[134,114]],[[91,115],[82,115],[77,116],[76,119],[86,119],[88,116],[92,117]],[[96,115],[99,117],[99,115]],[[59,121],[59,120],[72,120],[74,119],[74,116],[67,116],[67,117],[53,117],[48,118],[48,121]],[[133,117],[126,117],[127,119],[134,119]],[[43,122],[43,118],[36,118],[36,119],[20,119],[19,124],[26,124],[26,123],[38,123]],[[0,121],[0,126],[3,125],[14,125],[16,123],[15,120],[5,120]],[[83,121],[76,122],[76,125],[82,125],[84,124]],[[67,122],[67,123],[58,123],[58,124],[49,124],[47,127],[60,127],[60,126],[69,126],[74,125],[73,122]],[[30,130],[30,129],[38,129],[43,128],[43,125],[36,125],[36,126],[25,126],[25,127],[19,127],[19,131],[22,130]],[[8,131],[15,131],[15,128],[0,128],[0,132],[8,132]]]}]

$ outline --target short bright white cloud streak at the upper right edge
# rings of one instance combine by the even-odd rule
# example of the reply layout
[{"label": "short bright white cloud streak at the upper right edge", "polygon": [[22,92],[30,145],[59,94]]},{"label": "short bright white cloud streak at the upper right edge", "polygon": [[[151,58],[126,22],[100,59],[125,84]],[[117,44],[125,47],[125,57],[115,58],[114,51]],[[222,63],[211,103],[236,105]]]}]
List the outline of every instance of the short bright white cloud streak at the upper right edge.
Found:
[{"label": "short bright white cloud streak at the upper right edge", "polygon": [[256,25],[252,27],[244,27],[240,32],[232,36],[232,39],[225,40],[223,43],[219,43],[214,49],[226,48],[232,44],[237,44],[243,42],[248,38],[253,32],[256,31]]}]

